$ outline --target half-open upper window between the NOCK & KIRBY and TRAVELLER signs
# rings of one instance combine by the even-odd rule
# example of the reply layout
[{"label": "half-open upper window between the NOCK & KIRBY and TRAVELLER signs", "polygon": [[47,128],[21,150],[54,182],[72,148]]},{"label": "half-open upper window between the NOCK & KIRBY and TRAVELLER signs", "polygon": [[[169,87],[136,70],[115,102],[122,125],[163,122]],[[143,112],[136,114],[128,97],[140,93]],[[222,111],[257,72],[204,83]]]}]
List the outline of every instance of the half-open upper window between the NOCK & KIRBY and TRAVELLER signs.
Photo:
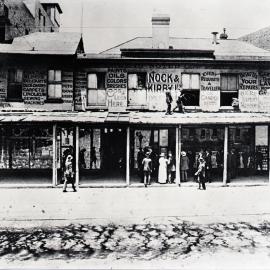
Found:
[{"label": "half-open upper window between the NOCK & KIRBY and TRAVELLER signs", "polygon": [[184,94],[184,106],[200,105],[200,75],[182,74],[182,87]]}]

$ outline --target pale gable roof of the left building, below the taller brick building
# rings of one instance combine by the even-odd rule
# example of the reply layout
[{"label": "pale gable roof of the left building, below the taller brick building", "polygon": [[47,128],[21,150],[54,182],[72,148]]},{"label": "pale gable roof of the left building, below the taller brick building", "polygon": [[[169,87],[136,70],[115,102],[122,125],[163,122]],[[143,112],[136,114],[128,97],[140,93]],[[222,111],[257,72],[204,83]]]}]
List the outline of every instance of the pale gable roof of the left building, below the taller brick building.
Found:
[{"label": "pale gable roof of the left building, below the taller brick building", "polygon": [[74,55],[80,44],[80,33],[37,32],[14,38],[11,44],[0,44],[0,53]]}]

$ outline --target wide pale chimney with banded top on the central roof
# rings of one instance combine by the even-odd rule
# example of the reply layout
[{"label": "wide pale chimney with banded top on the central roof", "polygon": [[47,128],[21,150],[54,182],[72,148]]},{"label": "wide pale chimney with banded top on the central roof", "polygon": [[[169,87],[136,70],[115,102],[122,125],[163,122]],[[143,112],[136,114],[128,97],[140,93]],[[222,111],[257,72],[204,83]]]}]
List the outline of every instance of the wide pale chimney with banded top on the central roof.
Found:
[{"label": "wide pale chimney with banded top on the central roof", "polygon": [[152,17],[152,48],[169,48],[170,17],[166,14],[155,14]]}]

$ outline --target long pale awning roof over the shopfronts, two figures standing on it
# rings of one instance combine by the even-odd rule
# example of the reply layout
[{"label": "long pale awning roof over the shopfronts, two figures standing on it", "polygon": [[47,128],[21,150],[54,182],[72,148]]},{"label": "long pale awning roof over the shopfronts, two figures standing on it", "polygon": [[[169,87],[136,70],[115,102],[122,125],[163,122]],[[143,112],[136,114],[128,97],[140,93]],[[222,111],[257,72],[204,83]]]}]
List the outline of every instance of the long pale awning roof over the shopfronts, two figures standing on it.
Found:
[{"label": "long pale awning roof over the shopfronts, two figures standing on it", "polygon": [[[104,112],[0,112],[1,123],[126,123],[131,125],[207,125],[207,124],[266,124],[270,123],[270,113],[175,113],[125,112],[114,115],[108,121]],[[115,116],[117,117],[115,118]]]}]

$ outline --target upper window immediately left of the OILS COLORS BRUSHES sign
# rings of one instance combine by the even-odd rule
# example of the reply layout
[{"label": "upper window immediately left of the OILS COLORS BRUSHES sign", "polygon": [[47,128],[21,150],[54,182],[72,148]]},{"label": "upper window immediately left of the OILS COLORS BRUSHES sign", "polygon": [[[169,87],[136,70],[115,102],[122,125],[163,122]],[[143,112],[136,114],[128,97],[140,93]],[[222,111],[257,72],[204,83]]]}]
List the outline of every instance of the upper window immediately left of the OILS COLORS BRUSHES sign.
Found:
[{"label": "upper window immediately left of the OILS COLORS BRUSHES sign", "polygon": [[[89,73],[87,76],[88,105],[103,105],[105,103],[105,73]],[[104,91],[100,91],[104,90]]]}]

